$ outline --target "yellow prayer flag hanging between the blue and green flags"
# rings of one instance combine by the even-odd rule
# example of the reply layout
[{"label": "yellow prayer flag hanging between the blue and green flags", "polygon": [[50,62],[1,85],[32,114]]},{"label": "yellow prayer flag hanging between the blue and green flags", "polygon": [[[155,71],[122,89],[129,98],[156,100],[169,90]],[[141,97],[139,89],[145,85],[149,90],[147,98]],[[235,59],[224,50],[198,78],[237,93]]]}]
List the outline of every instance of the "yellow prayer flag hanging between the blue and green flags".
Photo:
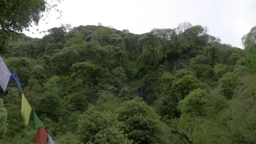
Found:
[{"label": "yellow prayer flag hanging between the blue and green flags", "polygon": [[31,106],[30,103],[28,103],[24,93],[21,94],[21,114],[24,120],[24,124],[27,125],[28,121],[30,120],[30,114],[31,114]]}]

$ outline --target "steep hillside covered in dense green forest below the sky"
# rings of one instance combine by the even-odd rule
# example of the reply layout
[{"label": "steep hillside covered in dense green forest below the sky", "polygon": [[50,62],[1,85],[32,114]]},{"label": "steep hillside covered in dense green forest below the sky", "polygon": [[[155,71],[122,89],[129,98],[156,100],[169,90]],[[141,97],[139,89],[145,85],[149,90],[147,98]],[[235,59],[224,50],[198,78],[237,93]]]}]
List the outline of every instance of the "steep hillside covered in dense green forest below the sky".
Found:
[{"label": "steep hillside covered in dense green forest below the sky", "polygon": [[[62,25],[10,38],[1,56],[56,144],[256,143],[255,39],[256,27],[238,49],[188,22]],[[0,143],[33,143],[19,88],[0,93]]]}]

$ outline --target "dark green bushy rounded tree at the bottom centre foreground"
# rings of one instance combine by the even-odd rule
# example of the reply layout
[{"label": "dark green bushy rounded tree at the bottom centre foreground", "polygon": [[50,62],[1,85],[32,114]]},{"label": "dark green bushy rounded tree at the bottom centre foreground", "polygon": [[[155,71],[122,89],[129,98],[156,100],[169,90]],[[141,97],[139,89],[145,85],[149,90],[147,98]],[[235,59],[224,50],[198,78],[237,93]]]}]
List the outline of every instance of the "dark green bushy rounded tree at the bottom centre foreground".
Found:
[{"label": "dark green bushy rounded tree at the bottom centre foreground", "polygon": [[117,119],[124,123],[124,133],[135,143],[164,142],[156,113],[139,98],[125,101],[118,110]]}]

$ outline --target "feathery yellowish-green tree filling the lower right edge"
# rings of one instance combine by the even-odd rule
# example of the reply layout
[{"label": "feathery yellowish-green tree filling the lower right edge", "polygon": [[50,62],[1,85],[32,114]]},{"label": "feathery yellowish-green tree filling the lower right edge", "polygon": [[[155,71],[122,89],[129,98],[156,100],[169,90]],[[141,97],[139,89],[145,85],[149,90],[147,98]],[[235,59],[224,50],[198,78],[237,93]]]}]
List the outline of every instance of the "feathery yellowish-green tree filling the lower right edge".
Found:
[{"label": "feathery yellowish-green tree filling the lower right edge", "polygon": [[232,143],[255,143],[255,75],[244,77],[220,115],[220,128],[228,130],[224,136]]}]

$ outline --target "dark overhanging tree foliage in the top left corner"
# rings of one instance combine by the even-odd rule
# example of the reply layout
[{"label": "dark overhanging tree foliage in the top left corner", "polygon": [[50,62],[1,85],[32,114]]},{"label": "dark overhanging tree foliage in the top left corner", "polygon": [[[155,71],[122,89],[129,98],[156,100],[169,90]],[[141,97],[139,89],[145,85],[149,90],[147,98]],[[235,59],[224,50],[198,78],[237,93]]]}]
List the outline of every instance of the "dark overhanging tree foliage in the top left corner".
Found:
[{"label": "dark overhanging tree foliage in the top left corner", "polygon": [[4,52],[4,47],[11,35],[22,32],[32,26],[32,23],[38,25],[39,20],[44,16],[44,12],[55,7],[56,3],[50,1],[1,1],[0,52]]}]

